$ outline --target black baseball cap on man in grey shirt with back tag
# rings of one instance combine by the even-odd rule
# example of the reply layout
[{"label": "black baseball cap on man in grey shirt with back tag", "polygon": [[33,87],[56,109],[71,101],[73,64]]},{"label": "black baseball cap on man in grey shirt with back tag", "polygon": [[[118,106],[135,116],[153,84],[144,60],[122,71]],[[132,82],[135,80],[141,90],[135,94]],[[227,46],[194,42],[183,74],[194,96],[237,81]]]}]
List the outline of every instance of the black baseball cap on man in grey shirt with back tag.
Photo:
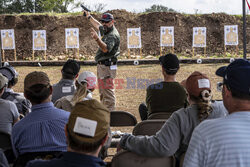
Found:
[{"label": "black baseball cap on man in grey shirt with back tag", "polygon": [[63,65],[62,71],[68,74],[77,75],[80,71],[80,64],[73,59],[68,59]]}]

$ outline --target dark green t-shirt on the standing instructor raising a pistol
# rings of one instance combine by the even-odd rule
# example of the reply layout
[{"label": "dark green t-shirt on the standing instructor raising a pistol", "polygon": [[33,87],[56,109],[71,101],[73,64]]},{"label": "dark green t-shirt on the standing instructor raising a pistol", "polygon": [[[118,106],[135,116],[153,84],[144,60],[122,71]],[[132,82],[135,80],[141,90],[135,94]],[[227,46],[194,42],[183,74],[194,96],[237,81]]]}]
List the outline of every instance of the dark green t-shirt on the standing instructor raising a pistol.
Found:
[{"label": "dark green t-shirt on the standing instructor raising a pistol", "polygon": [[[103,26],[99,27],[100,32],[103,32]],[[103,61],[111,59],[113,62],[117,61],[117,56],[120,55],[120,35],[113,26],[112,30],[102,36],[102,41],[107,45],[108,52],[104,53],[100,48],[98,49],[95,61]]]}]

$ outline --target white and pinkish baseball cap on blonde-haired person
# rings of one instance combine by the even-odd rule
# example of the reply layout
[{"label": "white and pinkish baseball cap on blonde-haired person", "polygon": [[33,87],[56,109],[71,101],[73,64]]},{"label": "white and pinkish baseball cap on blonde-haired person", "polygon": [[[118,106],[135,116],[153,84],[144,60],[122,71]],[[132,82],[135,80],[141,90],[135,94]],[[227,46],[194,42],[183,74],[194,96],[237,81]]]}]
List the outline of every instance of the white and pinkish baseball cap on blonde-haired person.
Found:
[{"label": "white and pinkish baseball cap on blonde-haired person", "polygon": [[77,81],[78,83],[81,83],[81,82],[88,83],[88,86],[87,86],[88,89],[95,89],[96,87],[96,75],[90,71],[82,72],[78,76]]}]

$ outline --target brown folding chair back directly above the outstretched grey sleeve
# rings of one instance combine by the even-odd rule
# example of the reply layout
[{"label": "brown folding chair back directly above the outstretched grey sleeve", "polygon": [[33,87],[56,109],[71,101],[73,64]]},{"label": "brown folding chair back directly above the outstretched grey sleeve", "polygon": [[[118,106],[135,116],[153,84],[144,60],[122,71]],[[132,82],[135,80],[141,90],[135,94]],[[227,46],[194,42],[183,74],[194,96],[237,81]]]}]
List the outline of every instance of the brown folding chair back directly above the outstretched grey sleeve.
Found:
[{"label": "brown folding chair back directly above the outstretched grey sleeve", "polygon": [[155,135],[158,132],[166,120],[145,120],[138,123],[133,129],[133,135]]}]

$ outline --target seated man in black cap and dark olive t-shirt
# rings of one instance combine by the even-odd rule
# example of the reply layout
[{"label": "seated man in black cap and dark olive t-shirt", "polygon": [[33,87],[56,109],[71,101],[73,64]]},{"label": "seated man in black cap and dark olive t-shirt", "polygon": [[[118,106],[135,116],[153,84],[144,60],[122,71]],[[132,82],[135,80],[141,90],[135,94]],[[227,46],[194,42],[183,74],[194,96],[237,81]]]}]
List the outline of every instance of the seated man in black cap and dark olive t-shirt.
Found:
[{"label": "seated man in black cap and dark olive t-shirt", "polygon": [[175,76],[179,70],[179,60],[174,54],[160,57],[164,81],[148,86],[146,106],[141,104],[139,112],[142,120],[146,120],[152,113],[172,113],[187,105],[186,91]]}]

